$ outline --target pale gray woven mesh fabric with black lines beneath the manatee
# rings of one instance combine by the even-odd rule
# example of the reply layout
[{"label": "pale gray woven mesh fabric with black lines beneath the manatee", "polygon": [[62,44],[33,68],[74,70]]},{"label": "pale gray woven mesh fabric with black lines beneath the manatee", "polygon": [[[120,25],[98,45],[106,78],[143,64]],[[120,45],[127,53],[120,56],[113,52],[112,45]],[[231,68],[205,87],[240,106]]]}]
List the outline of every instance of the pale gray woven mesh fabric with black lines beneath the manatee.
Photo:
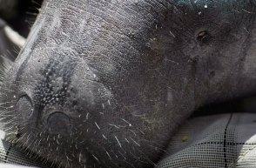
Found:
[{"label": "pale gray woven mesh fabric with black lines beneath the manatee", "polygon": [[[256,114],[230,113],[191,118],[173,135],[157,168],[256,167]],[[3,136],[3,132],[0,133]],[[47,167],[2,140],[0,167]],[[10,165],[11,164],[11,165]]]}]

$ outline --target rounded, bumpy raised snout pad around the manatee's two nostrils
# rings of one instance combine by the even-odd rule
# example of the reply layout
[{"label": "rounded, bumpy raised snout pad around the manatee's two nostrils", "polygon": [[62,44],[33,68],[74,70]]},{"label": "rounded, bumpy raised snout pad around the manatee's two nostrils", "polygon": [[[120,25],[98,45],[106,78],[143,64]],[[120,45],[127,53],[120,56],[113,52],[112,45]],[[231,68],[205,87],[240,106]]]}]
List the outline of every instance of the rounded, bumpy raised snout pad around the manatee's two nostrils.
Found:
[{"label": "rounded, bumpy raised snout pad around the manatee's two nostrils", "polygon": [[[15,111],[22,124],[29,131],[37,127],[37,131],[64,137],[73,136],[82,124],[83,129],[88,127],[85,131],[99,130],[104,110],[114,105],[111,91],[83,60],[48,52],[54,56],[42,53],[45,57],[30,58],[18,70]],[[89,128],[90,124],[94,127]]]}]

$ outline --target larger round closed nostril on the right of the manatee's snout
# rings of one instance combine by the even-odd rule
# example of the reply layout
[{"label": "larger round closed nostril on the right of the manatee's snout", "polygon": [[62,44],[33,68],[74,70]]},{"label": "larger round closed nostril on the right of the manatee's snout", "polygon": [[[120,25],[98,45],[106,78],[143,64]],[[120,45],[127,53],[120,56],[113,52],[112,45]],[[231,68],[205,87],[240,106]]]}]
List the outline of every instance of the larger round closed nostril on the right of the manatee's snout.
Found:
[{"label": "larger round closed nostril on the right of the manatee's snout", "polygon": [[61,111],[51,113],[47,118],[47,128],[51,134],[71,134],[71,119]]}]

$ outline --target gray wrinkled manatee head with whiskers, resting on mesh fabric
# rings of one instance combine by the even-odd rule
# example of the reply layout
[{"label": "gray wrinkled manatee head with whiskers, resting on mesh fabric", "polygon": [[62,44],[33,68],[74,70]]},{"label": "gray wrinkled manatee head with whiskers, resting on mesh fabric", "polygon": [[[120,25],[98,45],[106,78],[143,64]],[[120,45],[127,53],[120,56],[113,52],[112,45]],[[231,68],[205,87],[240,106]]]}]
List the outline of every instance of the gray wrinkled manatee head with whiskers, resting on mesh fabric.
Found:
[{"label": "gray wrinkled manatee head with whiskers, resting on mesh fabric", "polygon": [[46,0],[2,84],[8,139],[64,167],[153,167],[203,104],[256,91],[254,0]]}]

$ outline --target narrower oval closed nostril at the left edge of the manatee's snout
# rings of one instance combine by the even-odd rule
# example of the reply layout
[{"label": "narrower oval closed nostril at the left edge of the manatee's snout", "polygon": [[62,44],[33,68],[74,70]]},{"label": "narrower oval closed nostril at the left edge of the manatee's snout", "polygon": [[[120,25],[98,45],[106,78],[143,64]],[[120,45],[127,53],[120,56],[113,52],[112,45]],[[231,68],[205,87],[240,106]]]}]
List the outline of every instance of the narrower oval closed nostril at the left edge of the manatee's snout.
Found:
[{"label": "narrower oval closed nostril at the left edge of the manatee's snout", "polygon": [[34,110],[30,97],[27,95],[20,97],[16,104],[16,110],[24,120],[30,118]]}]

